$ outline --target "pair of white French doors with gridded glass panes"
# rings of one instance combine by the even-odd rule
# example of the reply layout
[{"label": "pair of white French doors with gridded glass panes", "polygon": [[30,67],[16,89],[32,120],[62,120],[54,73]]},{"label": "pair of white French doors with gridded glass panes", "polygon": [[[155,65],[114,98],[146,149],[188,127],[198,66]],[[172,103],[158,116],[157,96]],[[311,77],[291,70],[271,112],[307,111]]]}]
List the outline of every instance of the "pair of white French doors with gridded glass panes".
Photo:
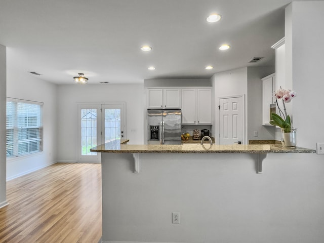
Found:
[{"label": "pair of white French doors with gridded glass panes", "polygon": [[90,149],[126,135],[125,104],[78,105],[78,119],[78,162],[100,163],[101,154]]}]

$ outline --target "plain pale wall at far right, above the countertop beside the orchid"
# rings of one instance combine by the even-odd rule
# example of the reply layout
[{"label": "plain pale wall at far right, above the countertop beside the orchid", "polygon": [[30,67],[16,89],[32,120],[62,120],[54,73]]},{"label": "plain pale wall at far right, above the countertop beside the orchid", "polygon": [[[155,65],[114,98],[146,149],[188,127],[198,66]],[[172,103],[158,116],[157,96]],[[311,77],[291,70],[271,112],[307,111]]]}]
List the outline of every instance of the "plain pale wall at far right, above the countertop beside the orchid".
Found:
[{"label": "plain pale wall at far right, above the countertop beside the orchid", "polygon": [[[286,10],[286,16],[291,16],[293,23],[286,25],[286,50],[292,50],[292,56],[289,53],[286,56],[292,60],[293,89],[298,95],[292,101],[294,126],[298,145],[309,148],[315,148],[316,142],[324,142],[323,12],[323,1],[293,2]],[[304,17],[300,18],[301,15]],[[289,46],[290,39],[292,46]],[[315,161],[318,163],[314,170],[323,170],[324,155],[317,155]],[[324,190],[320,194],[324,197]]]}]

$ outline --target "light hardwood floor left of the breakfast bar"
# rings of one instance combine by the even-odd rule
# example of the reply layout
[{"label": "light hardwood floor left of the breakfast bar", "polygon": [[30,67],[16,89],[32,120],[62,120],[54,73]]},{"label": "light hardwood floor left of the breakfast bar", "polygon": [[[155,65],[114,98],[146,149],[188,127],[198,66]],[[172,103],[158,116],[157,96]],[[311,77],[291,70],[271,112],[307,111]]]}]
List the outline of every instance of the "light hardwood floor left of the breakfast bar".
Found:
[{"label": "light hardwood floor left of the breakfast bar", "polygon": [[58,163],[7,182],[1,243],[97,243],[101,164]]}]

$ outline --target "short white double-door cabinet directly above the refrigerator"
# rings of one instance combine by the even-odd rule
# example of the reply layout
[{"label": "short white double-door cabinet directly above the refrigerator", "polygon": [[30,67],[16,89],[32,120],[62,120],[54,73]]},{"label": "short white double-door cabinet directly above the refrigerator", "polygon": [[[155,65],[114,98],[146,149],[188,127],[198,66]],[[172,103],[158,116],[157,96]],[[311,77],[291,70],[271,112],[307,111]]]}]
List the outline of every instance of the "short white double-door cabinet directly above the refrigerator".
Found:
[{"label": "short white double-door cabinet directly above the refrigerator", "polygon": [[180,89],[147,89],[147,108],[180,108]]}]

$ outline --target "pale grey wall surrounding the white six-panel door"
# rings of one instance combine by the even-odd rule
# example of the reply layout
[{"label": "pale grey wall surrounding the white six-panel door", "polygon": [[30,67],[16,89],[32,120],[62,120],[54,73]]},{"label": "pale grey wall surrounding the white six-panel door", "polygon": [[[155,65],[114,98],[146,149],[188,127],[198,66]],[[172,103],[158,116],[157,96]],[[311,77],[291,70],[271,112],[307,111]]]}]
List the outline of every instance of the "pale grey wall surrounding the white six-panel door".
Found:
[{"label": "pale grey wall surrounding the white six-panel door", "polygon": [[[274,129],[262,126],[262,81],[261,78],[274,72],[273,67],[244,67],[215,73],[212,83],[215,90],[215,107],[220,97],[245,95],[246,141],[273,140]],[[219,112],[215,111],[213,134],[219,134]],[[258,131],[258,137],[253,132]],[[218,138],[216,136],[216,142]]]}]

